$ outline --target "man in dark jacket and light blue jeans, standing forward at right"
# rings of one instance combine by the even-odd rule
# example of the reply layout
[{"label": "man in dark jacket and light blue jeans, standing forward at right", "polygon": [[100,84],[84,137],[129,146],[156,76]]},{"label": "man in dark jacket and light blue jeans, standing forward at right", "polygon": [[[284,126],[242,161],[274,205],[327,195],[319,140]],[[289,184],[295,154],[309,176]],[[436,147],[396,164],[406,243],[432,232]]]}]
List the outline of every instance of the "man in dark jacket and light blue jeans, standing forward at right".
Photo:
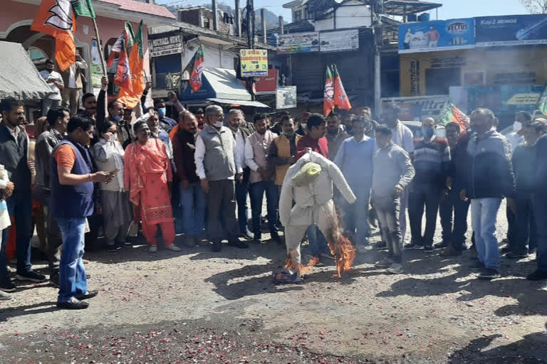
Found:
[{"label": "man in dark jacket and light blue jeans, standing forward at right", "polygon": [[467,144],[468,183],[461,196],[463,200],[467,200],[467,196],[471,198],[471,223],[479,259],[469,264],[469,269],[480,270],[479,279],[500,277],[496,215],[504,197],[509,208],[514,208],[511,143],[496,132],[496,122],[489,109],[475,109],[471,114],[474,134]]}]

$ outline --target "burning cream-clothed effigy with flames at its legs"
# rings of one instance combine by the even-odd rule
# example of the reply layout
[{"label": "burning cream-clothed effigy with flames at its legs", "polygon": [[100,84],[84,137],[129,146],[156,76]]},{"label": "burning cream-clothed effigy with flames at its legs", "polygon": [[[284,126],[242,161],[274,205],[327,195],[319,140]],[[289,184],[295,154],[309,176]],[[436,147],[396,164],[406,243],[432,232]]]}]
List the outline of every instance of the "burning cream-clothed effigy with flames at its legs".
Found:
[{"label": "burning cream-clothed effigy with flames at its legs", "polygon": [[[301,263],[301,241],[308,227],[316,224],[335,257],[338,273],[348,271],[355,258],[355,248],[343,236],[333,203],[333,183],[348,203],[356,198],[338,166],[314,151],[309,151],[288,168],[281,197],[279,218],[285,227],[287,261],[285,271],[278,273],[278,281],[298,281],[307,274],[318,259]],[[293,205],[294,203],[294,205]],[[276,274],[273,274],[274,281]]]}]

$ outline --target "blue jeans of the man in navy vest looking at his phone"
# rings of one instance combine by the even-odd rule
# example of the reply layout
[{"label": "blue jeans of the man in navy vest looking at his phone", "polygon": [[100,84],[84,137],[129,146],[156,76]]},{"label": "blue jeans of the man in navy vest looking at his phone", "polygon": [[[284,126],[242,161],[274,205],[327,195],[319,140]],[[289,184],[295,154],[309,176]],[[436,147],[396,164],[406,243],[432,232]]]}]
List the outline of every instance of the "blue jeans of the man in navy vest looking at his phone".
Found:
[{"label": "blue jeans of the man in navy vest looking at his phone", "polygon": [[82,296],[88,290],[83,266],[83,247],[85,218],[57,219],[63,236],[61,263],[59,264],[58,302],[66,302],[71,297]]}]

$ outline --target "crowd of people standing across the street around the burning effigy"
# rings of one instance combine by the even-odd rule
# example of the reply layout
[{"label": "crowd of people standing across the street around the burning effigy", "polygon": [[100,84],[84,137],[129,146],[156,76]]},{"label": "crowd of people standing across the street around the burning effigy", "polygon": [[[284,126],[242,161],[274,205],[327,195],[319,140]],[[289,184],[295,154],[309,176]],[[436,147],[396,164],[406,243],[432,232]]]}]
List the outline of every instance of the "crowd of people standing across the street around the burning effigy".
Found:
[{"label": "crowd of people standing across the street around the burning effigy", "polygon": [[[52,90],[63,88],[56,75],[44,77],[53,77]],[[296,267],[304,235],[306,259],[314,262],[333,259],[328,229],[338,227],[365,253],[370,225],[377,221],[382,241],[375,248],[387,255],[376,266],[401,274],[405,249],[461,255],[470,208],[475,259],[469,269],[479,270],[480,279],[494,279],[500,256],[496,215],[505,198],[509,244],[502,252],[509,258],[537,252],[538,269],[528,279],[547,279],[547,236],[541,229],[547,214],[541,188],[547,178],[546,119],[519,112],[518,131],[506,138],[496,132],[489,109],[476,109],[469,127],[447,124],[446,138],[425,117],[415,138],[397,119],[397,107],[384,110],[382,124],[369,107],[344,117],[305,112],[298,123],[288,112],[256,113],[247,122],[241,109],[224,114],[209,105],[190,112],[172,93],[172,119],[165,100],[147,106],[150,85],[135,109],[118,100],[105,105],[107,88],[103,77],[98,96],[83,95],[81,108],[45,102],[34,135],[25,127],[24,104],[1,102],[0,299],[16,291],[6,257],[11,229],[16,228],[16,279],[46,281],[31,265],[36,225],[45,241],[49,281],[59,288],[58,307],[85,309],[85,299],[98,294],[88,290],[82,258],[85,233],[96,229],[90,217],[99,210],[110,252],[127,245],[139,225],[151,253],[160,240],[166,250],[179,252],[176,233],[187,247],[207,243],[220,252],[224,240],[244,249],[247,241],[264,242],[266,218],[271,241],[285,244]],[[306,166],[306,173],[318,168],[325,174],[296,183]],[[405,245],[407,211],[411,239]],[[434,244],[437,214],[442,241]],[[333,222],[336,215],[340,224]]]}]

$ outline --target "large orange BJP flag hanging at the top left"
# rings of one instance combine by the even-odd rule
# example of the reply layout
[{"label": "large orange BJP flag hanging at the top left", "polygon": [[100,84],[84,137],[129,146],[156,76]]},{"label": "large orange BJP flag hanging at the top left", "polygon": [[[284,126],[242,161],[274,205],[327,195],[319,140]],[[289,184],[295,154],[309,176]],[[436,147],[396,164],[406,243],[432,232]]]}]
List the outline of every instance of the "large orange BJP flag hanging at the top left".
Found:
[{"label": "large orange BJP flag hanging at the top left", "polygon": [[61,71],[76,61],[75,30],[71,0],[42,0],[38,14],[31,24],[31,31],[55,38],[55,60]]}]

